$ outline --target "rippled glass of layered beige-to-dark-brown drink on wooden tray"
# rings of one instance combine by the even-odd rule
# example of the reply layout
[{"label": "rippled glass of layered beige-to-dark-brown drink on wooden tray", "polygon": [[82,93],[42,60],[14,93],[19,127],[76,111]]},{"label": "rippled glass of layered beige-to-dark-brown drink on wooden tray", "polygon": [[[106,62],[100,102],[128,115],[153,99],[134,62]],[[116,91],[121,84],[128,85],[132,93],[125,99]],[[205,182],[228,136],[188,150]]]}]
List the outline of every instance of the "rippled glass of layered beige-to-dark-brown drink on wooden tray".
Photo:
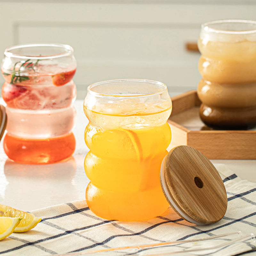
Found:
[{"label": "rippled glass of layered beige-to-dark-brown drink on wooden tray", "polygon": [[256,21],[217,20],[198,39],[200,117],[218,129],[256,124]]}]

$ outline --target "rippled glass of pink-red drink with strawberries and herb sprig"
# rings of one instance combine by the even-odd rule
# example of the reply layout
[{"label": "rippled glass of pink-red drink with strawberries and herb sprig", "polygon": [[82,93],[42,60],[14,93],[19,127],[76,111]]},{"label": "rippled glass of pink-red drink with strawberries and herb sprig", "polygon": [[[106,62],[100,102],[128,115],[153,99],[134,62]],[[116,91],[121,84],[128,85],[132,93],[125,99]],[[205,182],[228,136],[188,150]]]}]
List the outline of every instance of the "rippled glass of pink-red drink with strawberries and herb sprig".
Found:
[{"label": "rippled glass of pink-red drink with strawberries and herb sprig", "polygon": [[13,46],[4,52],[1,71],[7,156],[25,164],[54,163],[71,156],[76,146],[71,132],[76,121],[73,48],[64,44]]}]

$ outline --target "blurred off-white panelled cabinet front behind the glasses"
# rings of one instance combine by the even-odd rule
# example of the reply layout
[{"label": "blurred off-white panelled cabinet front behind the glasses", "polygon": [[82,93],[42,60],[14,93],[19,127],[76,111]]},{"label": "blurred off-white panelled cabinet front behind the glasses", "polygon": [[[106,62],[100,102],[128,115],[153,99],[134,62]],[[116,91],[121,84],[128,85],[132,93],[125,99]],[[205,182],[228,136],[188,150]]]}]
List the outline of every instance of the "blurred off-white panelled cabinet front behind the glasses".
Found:
[{"label": "blurred off-white panelled cabinet front behind the glasses", "polygon": [[[199,53],[187,52],[200,24],[255,20],[256,1],[1,1],[0,51],[14,44],[52,42],[75,50],[77,98],[91,83],[147,78],[171,96],[196,89]],[[0,83],[3,83],[0,78]]]}]

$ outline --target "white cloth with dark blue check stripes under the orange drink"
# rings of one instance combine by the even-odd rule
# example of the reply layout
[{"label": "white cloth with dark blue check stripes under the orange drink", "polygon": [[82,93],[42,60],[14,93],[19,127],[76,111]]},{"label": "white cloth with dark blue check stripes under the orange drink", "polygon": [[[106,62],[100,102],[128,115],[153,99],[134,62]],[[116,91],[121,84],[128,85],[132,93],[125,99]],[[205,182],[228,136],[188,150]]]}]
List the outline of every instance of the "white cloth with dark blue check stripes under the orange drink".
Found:
[{"label": "white cloth with dark blue check stripes under the orange drink", "polygon": [[[1,255],[170,255],[186,248],[178,255],[252,255],[256,242],[248,239],[212,251],[193,251],[210,248],[229,241],[228,236],[188,244],[172,244],[156,248],[138,247],[109,251],[111,248],[161,244],[212,237],[241,231],[243,235],[256,234],[256,184],[241,180],[225,165],[216,165],[228,194],[228,209],[218,223],[196,226],[177,215],[170,207],[162,216],[141,222],[104,220],[93,214],[85,201],[69,202],[31,211],[42,221],[25,233],[13,233],[0,241]],[[213,246],[212,246],[213,247]],[[167,254],[166,254],[167,253]],[[191,253],[191,254],[190,254]],[[87,255],[87,254],[85,254]]]}]

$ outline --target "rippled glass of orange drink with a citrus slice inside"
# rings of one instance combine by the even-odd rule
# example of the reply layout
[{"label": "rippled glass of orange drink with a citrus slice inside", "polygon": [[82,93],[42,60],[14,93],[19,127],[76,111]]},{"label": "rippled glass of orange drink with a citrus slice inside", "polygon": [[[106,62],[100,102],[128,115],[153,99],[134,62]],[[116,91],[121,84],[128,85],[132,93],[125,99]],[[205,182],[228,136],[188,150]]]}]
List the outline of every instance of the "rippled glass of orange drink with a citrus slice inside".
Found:
[{"label": "rippled glass of orange drink with a citrus slice inside", "polygon": [[161,189],[161,162],[171,142],[172,102],[166,85],[123,79],[87,89],[84,168],[92,212],[111,220],[147,220],[169,206]]}]

